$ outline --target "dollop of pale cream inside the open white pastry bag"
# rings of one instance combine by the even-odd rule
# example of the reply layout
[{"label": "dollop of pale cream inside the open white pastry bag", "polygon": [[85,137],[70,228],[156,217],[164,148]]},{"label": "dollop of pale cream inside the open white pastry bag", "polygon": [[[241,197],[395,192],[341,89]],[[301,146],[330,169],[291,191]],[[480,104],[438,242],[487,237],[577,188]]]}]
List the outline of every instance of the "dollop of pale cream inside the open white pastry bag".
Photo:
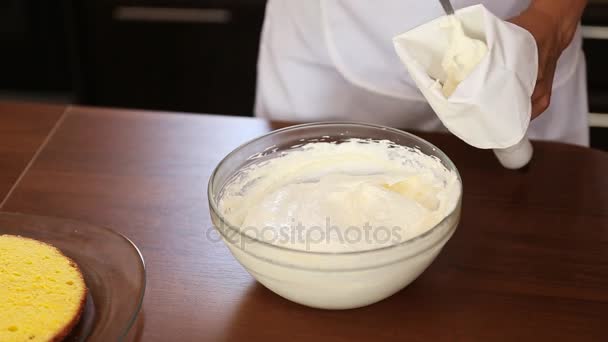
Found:
[{"label": "dollop of pale cream inside the open white pastry bag", "polygon": [[481,40],[468,37],[455,15],[447,16],[442,27],[450,30],[450,43],[441,61],[446,73],[442,91],[449,97],[488,53],[488,46]]}]

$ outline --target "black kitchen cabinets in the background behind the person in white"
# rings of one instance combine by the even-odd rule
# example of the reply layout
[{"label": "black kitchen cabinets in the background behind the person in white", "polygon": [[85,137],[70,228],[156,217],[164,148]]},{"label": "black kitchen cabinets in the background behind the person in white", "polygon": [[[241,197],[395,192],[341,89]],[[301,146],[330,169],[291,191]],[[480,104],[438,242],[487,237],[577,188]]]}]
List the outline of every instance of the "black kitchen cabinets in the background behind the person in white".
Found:
[{"label": "black kitchen cabinets in the background behind the person in white", "polygon": [[[264,7],[0,1],[0,97],[249,116]],[[590,1],[583,25],[592,146],[608,150],[608,1]]]}]

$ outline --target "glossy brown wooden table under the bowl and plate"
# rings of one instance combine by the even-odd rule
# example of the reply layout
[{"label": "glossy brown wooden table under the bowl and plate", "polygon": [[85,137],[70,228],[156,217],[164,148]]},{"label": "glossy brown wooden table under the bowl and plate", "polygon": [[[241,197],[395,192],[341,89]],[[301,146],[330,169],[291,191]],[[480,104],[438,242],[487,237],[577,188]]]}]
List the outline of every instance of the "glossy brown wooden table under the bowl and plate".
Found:
[{"label": "glossy brown wooden table under the bowl and plate", "polygon": [[257,284],[206,238],[217,162],[272,125],[211,115],[0,103],[3,211],[106,225],[142,250],[141,341],[602,341],[608,338],[608,155],[535,143],[525,171],[444,134],[464,181],[456,234],[414,283],[323,311]]}]

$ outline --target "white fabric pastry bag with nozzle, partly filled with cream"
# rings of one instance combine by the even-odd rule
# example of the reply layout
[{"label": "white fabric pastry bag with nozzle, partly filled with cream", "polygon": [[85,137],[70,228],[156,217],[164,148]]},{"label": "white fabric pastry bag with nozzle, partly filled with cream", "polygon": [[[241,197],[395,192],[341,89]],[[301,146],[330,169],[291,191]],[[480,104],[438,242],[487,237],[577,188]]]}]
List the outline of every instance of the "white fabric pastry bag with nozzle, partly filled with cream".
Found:
[{"label": "white fabric pastry bag with nozzle, partly filled with cream", "polygon": [[[536,44],[524,31],[476,5],[393,39],[444,125],[470,145],[492,148],[511,169],[532,157],[525,133],[537,73],[535,62],[530,63],[536,61]],[[519,60],[522,55],[529,59]]]}]

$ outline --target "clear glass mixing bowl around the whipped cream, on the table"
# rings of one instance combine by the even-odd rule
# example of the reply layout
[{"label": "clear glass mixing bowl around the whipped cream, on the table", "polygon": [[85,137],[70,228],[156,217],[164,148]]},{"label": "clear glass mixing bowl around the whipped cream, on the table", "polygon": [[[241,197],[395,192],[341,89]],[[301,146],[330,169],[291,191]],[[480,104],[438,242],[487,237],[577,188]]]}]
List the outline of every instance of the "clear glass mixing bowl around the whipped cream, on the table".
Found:
[{"label": "clear glass mixing bowl around the whipped cream, on the table", "polygon": [[[260,283],[294,302],[323,309],[349,309],[382,300],[414,281],[437,257],[460,220],[462,186],[453,210],[436,226],[412,239],[357,252],[310,252],[270,244],[231,226],[218,209],[222,188],[239,170],[275,153],[313,141],[350,138],[390,140],[437,157],[453,170],[452,161],[427,141],[397,129],[343,122],[314,123],[273,131],[228,154],[208,186],[211,220],[234,257]],[[252,158],[255,156],[255,158]]]}]

